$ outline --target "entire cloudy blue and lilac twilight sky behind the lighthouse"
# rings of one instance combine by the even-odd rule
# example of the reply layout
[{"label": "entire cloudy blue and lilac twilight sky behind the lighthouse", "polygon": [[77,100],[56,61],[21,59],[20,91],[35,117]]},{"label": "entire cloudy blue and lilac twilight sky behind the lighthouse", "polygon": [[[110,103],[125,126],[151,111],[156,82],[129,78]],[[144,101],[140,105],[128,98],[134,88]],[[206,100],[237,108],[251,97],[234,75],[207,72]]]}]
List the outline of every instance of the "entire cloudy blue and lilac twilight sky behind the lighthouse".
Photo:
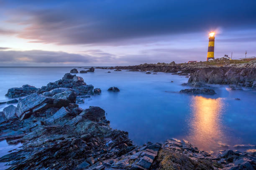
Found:
[{"label": "entire cloudy blue and lilac twilight sky behind the lighthouse", "polygon": [[0,66],[256,56],[256,0],[0,0]]}]

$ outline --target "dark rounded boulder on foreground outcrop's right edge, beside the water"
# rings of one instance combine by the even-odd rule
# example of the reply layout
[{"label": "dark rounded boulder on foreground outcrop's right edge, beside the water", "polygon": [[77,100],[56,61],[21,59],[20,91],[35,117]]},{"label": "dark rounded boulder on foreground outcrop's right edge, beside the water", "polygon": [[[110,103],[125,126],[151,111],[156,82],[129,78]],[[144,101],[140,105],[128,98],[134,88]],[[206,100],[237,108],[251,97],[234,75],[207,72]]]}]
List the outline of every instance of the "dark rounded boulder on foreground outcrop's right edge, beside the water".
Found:
[{"label": "dark rounded boulder on foreground outcrop's right edge, beside the water", "polygon": [[105,110],[100,107],[90,106],[89,109],[83,111],[87,119],[99,122],[105,120]]}]

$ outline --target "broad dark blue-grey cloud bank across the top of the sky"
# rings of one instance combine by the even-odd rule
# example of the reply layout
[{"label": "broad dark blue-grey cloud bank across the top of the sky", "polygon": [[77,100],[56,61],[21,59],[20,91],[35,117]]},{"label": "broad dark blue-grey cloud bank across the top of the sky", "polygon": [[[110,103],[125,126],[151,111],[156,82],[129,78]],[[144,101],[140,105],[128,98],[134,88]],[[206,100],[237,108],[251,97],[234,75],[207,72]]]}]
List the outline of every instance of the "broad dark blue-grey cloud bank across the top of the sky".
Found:
[{"label": "broad dark blue-grey cloud bank across the top of the sky", "polygon": [[256,26],[255,0],[26,2],[10,12],[9,22],[27,25],[18,36],[56,44],[122,45],[138,37]]}]

